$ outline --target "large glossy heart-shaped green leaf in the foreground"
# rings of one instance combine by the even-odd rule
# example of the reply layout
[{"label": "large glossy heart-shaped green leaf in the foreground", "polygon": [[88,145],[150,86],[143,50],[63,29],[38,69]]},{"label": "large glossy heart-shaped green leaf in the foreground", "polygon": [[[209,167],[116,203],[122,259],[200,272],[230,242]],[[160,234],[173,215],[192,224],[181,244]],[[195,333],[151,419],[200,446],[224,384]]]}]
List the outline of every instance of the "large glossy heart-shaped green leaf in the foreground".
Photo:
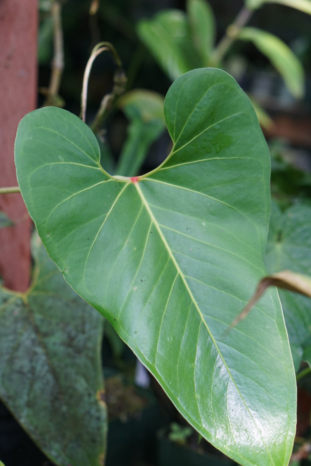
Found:
[{"label": "large glossy heart-shaped green leaf in the foreground", "polygon": [[22,195],[66,280],[105,315],[203,437],[243,465],[287,465],[296,383],[276,290],[225,335],[265,274],[270,159],[227,73],[173,83],[173,149],[110,177],[93,133],[56,108],[20,123]]}]

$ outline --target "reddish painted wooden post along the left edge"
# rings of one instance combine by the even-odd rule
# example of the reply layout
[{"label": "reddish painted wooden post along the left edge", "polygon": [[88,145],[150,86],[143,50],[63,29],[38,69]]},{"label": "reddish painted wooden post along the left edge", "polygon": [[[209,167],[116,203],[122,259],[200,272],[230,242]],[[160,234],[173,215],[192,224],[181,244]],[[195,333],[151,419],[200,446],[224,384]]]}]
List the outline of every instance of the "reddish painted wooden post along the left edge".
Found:
[{"label": "reddish painted wooden post along the left edge", "polygon": [[[14,141],[24,115],[36,108],[37,0],[0,0],[0,187],[16,186]],[[4,285],[24,291],[30,277],[31,220],[20,194],[0,195],[16,226],[0,229]]]}]

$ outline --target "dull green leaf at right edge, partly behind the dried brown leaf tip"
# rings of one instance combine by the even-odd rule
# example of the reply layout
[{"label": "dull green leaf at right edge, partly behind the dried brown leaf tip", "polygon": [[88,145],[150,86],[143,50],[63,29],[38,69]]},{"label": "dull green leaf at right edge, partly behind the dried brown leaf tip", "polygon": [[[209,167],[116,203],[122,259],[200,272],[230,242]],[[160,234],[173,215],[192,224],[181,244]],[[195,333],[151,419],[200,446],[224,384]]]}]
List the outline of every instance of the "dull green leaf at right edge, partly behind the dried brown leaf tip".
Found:
[{"label": "dull green leaf at right edge, partly behind the dried brown leaf tip", "polygon": [[[290,269],[311,275],[311,207],[296,205],[284,213],[275,203],[272,207],[265,259],[268,271]],[[311,337],[311,300],[283,289],[279,290],[279,296],[298,369],[305,343]]]}]

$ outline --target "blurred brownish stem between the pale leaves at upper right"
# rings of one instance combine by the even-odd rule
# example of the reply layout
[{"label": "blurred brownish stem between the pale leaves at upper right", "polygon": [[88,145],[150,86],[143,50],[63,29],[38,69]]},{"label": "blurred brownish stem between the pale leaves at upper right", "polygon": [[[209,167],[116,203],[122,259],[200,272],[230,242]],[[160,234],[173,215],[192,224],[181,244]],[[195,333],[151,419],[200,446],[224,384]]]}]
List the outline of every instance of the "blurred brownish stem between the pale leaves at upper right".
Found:
[{"label": "blurred brownish stem between the pale leaves at upper right", "polygon": [[232,43],[237,39],[242,27],[244,27],[245,24],[250,20],[252,14],[253,10],[243,7],[233,23],[227,27],[226,34],[218,42],[214,50],[212,58],[213,66],[219,65],[219,63],[223,60],[224,55],[226,55]]}]

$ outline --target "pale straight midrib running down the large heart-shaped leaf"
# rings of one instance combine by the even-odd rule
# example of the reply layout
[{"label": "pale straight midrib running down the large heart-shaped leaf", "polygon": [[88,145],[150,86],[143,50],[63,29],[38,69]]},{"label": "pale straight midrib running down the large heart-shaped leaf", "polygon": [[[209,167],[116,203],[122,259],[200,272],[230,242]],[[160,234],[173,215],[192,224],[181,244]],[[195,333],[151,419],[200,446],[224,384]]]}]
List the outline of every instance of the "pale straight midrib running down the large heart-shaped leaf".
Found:
[{"label": "pale straight midrib running down the large heart-shaped leaf", "polygon": [[161,238],[161,240],[162,240],[162,242],[163,242],[163,244],[164,244],[164,246],[165,246],[165,248],[166,248],[166,250],[167,250],[167,252],[168,252],[168,254],[169,254],[169,256],[170,256],[170,258],[171,258],[171,260],[173,261],[173,263],[174,263],[174,265],[175,265],[175,267],[176,267],[176,270],[177,270],[178,274],[180,275],[180,277],[181,277],[181,279],[182,279],[182,281],[183,281],[183,284],[184,284],[184,286],[185,286],[187,292],[189,293],[189,296],[190,296],[190,298],[191,298],[191,301],[192,301],[193,304],[195,305],[195,308],[196,308],[198,314],[199,314],[200,317],[201,317],[201,321],[202,321],[203,324],[205,325],[205,328],[207,329],[207,331],[208,331],[208,333],[209,333],[209,335],[210,335],[210,338],[212,339],[212,342],[214,343],[215,348],[216,348],[216,350],[217,350],[219,356],[221,357],[221,359],[222,359],[222,361],[223,361],[223,364],[224,364],[224,366],[225,366],[225,368],[226,368],[226,370],[227,370],[227,372],[228,372],[228,374],[229,374],[229,376],[230,376],[230,378],[231,378],[231,380],[232,380],[234,386],[236,387],[236,390],[237,390],[237,392],[238,392],[238,394],[239,394],[241,400],[243,401],[243,404],[245,405],[246,410],[248,411],[248,413],[249,413],[251,419],[252,419],[253,422],[254,422],[254,425],[255,425],[256,428],[257,428],[257,431],[259,432],[259,435],[260,435],[260,438],[261,438],[261,440],[262,440],[262,443],[263,443],[263,445],[264,445],[264,447],[265,447],[265,449],[266,449],[266,451],[267,451],[267,453],[268,453],[268,455],[269,455],[269,457],[270,457],[270,459],[271,459],[271,464],[275,465],[275,463],[274,463],[274,461],[273,461],[273,459],[272,459],[272,457],[271,457],[271,455],[270,455],[269,449],[267,448],[267,445],[266,445],[265,442],[264,442],[264,439],[263,439],[263,437],[262,437],[261,431],[259,430],[259,428],[258,428],[258,426],[257,426],[257,423],[255,422],[255,419],[253,418],[253,416],[252,416],[252,414],[251,414],[251,412],[250,412],[250,410],[249,410],[247,404],[246,404],[245,401],[244,401],[244,398],[242,397],[242,394],[240,393],[240,391],[239,391],[239,389],[238,389],[238,387],[237,387],[237,384],[236,384],[234,378],[233,378],[232,375],[231,375],[231,372],[230,372],[230,370],[229,370],[229,367],[227,366],[227,363],[225,362],[225,360],[224,360],[224,358],[223,358],[223,355],[222,355],[220,349],[218,348],[218,345],[217,345],[217,343],[216,343],[216,340],[215,340],[214,336],[212,335],[209,326],[208,326],[207,323],[205,322],[205,320],[204,320],[204,318],[203,318],[203,314],[202,314],[200,308],[198,307],[198,305],[197,305],[197,303],[196,303],[196,301],[195,301],[195,299],[194,299],[194,296],[192,295],[192,292],[191,292],[191,290],[190,290],[190,288],[189,288],[189,286],[188,286],[188,283],[187,283],[187,281],[185,280],[184,275],[183,275],[183,273],[182,273],[180,267],[178,266],[178,263],[176,262],[176,259],[175,259],[175,257],[173,256],[173,254],[172,254],[172,252],[171,252],[171,250],[170,250],[170,247],[169,247],[167,241],[165,240],[165,237],[164,237],[164,235],[163,235],[163,233],[162,233],[162,230],[161,230],[161,228],[160,228],[160,226],[159,226],[159,224],[158,224],[156,218],[154,217],[153,213],[151,212],[151,210],[150,210],[150,208],[149,208],[149,204],[148,204],[147,200],[145,199],[145,197],[144,197],[144,195],[143,195],[143,193],[142,193],[142,190],[140,189],[140,187],[139,187],[138,184],[139,184],[139,183],[137,183],[137,182],[134,183],[135,188],[136,188],[136,190],[137,190],[137,192],[138,192],[140,198],[142,199],[142,203],[143,203],[143,205],[145,206],[147,212],[149,213],[149,216],[150,216],[151,220],[153,221],[154,225],[156,226],[157,232],[159,233],[160,238]]}]

